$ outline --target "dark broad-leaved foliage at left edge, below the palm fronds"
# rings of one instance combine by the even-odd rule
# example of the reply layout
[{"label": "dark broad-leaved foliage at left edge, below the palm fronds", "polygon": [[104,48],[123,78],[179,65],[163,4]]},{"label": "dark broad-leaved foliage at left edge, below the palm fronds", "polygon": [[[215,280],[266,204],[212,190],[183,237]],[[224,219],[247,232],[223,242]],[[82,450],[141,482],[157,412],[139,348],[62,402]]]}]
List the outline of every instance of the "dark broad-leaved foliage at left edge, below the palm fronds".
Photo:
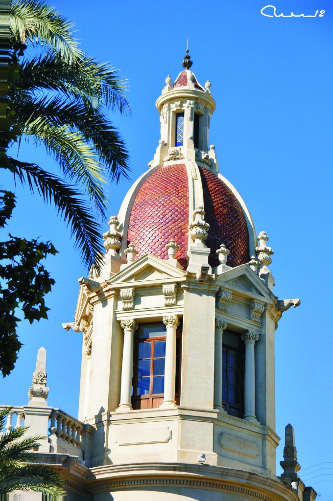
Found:
[{"label": "dark broad-leaved foliage at left edge, below the palm fronds", "polygon": [[[0,193],[0,227],[4,228],[15,207],[15,196],[10,191]],[[4,376],[13,370],[22,346],[17,336],[18,310],[31,324],[47,318],[44,296],[55,282],[41,261],[57,253],[49,241],[9,236],[0,246],[0,370]]]}]

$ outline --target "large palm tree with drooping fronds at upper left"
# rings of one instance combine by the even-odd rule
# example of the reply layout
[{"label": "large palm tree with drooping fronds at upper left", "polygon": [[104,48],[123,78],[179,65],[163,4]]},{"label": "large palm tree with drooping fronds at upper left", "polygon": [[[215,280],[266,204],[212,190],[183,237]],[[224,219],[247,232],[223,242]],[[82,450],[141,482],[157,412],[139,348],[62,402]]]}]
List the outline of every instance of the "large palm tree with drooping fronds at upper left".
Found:
[{"label": "large palm tree with drooping fronds at upper left", "polygon": [[[100,231],[90,204],[104,219],[107,179],[128,177],[128,153],[107,117],[108,110],[130,111],[123,96],[126,83],[117,70],[80,50],[73,25],[53,7],[40,0],[12,0],[11,11],[11,135],[44,145],[62,176],[10,156],[2,167],[47,202],[53,200],[71,225],[84,263],[98,266]],[[27,44],[36,51],[22,60]],[[82,192],[90,203],[82,201]]]}]

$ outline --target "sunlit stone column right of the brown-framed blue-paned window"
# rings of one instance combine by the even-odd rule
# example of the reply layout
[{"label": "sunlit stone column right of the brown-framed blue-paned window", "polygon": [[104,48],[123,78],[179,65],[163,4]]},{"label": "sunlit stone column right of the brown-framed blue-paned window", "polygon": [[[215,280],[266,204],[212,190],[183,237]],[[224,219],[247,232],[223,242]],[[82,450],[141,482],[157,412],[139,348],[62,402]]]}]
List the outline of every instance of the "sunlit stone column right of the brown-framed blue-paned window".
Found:
[{"label": "sunlit stone column right of the brown-framed blue-paned window", "polygon": [[176,330],[180,324],[176,316],[163,317],[167,327],[167,346],[165,348],[164,399],[160,407],[177,407],[175,400],[176,383]]}]

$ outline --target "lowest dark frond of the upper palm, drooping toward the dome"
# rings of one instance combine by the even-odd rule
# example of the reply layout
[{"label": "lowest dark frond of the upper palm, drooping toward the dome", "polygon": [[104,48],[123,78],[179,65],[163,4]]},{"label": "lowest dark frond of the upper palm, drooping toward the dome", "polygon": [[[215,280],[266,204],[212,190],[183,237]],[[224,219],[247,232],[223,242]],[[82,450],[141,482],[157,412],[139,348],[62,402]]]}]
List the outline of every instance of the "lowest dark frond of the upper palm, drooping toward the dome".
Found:
[{"label": "lowest dark frond of the upper palm, drooping toward the dome", "polygon": [[[37,190],[46,202],[53,200],[58,213],[71,225],[71,234],[85,265],[95,266],[97,271],[102,263],[101,236],[98,224],[89,207],[82,201],[82,194],[62,179],[45,172],[38,165],[9,158],[11,171],[22,184],[28,183],[32,192]],[[79,198],[81,196],[81,198]]]}]

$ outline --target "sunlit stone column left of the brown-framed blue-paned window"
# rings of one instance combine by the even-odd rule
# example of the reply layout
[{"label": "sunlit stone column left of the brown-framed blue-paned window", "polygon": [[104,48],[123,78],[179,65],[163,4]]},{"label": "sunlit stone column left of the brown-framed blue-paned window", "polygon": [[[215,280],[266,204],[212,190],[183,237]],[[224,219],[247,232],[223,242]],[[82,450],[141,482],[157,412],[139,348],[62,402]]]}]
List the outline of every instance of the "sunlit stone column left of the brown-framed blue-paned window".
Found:
[{"label": "sunlit stone column left of the brown-framed blue-paned window", "polygon": [[120,325],[124,330],[124,347],[122,352],[120,404],[117,410],[131,410],[133,335],[138,325],[132,318],[121,320]]}]

